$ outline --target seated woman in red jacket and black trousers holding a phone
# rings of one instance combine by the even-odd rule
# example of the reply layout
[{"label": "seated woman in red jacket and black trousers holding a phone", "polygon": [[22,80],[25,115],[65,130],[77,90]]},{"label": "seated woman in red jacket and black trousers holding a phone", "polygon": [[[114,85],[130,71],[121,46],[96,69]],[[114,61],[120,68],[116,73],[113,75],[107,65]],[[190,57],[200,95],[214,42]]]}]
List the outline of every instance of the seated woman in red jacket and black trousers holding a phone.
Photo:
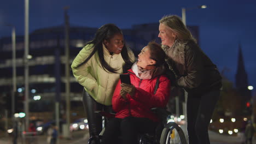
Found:
[{"label": "seated woman in red jacket and black trousers holding a phone", "polygon": [[115,88],[112,106],[117,114],[106,125],[104,143],[119,143],[121,136],[123,144],[135,144],[138,134],[154,133],[159,119],[150,109],[166,107],[170,97],[170,80],[164,75],[165,70],[165,52],[159,44],[149,43],[128,70],[131,85],[119,80]]}]

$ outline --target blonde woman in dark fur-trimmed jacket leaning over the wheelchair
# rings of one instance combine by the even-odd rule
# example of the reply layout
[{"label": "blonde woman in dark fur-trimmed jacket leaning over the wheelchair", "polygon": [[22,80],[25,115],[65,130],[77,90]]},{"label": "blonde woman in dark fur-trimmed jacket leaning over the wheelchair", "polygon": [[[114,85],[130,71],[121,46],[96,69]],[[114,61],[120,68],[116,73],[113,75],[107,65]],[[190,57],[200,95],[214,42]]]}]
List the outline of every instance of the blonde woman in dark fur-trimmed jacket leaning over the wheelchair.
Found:
[{"label": "blonde woman in dark fur-trimmed jacket leaning over the wheelchair", "polygon": [[222,77],[203,53],[180,17],[159,20],[162,49],[170,69],[176,74],[173,85],[188,92],[187,118],[190,144],[210,144],[208,125],[219,99]]}]

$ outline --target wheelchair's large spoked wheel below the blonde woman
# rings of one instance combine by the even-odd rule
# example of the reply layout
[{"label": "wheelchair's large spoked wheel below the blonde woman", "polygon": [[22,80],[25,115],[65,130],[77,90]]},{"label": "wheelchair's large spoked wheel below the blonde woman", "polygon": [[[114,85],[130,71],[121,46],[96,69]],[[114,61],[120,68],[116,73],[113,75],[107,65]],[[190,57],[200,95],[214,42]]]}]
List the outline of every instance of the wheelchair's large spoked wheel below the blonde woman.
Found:
[{"label": "wheelchair's large spoked wheel below the blonde woman", "polygon": [[170,122],[162,130],[160,144],[187,144],[187,140],[178,124]]}]

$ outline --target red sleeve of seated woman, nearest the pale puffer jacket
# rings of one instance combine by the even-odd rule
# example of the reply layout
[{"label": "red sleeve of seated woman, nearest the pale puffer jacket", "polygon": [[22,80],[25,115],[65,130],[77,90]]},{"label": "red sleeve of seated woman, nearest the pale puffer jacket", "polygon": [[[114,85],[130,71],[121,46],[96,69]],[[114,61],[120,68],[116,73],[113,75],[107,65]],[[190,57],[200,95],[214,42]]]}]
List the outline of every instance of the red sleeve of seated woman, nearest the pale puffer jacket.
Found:
[{"label": "red sleeve of seated woman, nearest the pale puffer jacket", "polygon": [[115,87],[115,91],[112,97],[112,107],[115,112],[119,112],[128,103],[128,101],[123,99],[120,95],[120,90],[121,90],[120,84],[121,84],[121,81],[119,80],[117,86]]}]

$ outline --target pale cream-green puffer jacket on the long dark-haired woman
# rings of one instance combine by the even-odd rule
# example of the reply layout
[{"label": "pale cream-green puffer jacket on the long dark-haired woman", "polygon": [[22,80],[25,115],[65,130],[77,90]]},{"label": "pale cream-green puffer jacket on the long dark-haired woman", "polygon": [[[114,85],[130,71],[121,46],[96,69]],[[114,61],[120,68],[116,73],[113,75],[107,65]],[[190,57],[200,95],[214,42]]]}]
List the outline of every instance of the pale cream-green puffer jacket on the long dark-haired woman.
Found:
[{"label": "pale cream-green puffer jacket on the long dark-haired woman", "polygon": [[[98,103],[111,105],[115,85],[118,83],[119,74],[123,73],[125,62],[121,53],[110,55],[107,48],[103,45],[104,59],[110,67],[117,69],[116,74],[102,68],[97,51],[88,62],[77,68],[90,55],[93,46],[93,44],[86,45],[75,57],[71,65],[73,75],[79,84],[84,87],[85,91]],[[128,48],[127,51],[131,62],[134,62],[135,56],[133,52]]]}]

